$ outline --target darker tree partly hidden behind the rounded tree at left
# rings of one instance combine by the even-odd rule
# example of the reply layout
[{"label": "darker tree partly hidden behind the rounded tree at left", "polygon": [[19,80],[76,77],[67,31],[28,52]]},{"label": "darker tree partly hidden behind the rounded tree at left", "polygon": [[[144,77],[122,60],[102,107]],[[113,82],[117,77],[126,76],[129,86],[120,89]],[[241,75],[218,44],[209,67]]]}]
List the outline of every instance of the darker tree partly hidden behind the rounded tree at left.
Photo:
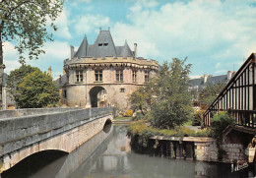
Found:
[{"label": "darker tree partly hidden behind the rounded tree at left", "polygon": [[22,65],[19,69],[11,71],[10,75],[7,77],[7,89],[10,93],[10,97],[17,101],[16,94],[19,89],[19,85],[23,82],[24,78],[28,75],[38,70],[36,67],[30,65]]}]

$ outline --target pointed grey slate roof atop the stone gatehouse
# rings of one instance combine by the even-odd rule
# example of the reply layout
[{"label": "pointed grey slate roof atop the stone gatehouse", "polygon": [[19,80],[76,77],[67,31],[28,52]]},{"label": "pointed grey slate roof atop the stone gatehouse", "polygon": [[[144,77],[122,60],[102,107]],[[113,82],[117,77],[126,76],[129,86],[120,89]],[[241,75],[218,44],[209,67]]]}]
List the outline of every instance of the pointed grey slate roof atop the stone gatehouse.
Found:
[{"label": "pointed grey slate roof atop the stone gatehouse", "polygon": [[123,46],[115,46],[112,39],[110,30],[100,30],[95,44],[89,44],[87,37],[82,41],[78,51],[74,57],[106,57],[106,56],[123,56],[123,57],[133,57],[133,52],[131,51],[127,42]]}]

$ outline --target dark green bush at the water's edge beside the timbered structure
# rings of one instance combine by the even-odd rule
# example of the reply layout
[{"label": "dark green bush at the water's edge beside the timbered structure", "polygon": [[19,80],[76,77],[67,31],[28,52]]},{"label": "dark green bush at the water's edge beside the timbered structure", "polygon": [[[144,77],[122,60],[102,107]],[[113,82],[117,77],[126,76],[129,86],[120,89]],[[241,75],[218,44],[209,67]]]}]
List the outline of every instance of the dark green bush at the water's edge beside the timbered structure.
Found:
[{"label": "dark green bush at the water's edge beside the timbered structure", "polygon": [[211,120],[211,129],[213,132],[213,136],[216,138],[222,138],[224,129],[227,126],[233,126],[234,119],[227,112],[220,112],[219,114],[215,114],[213,119]]}]

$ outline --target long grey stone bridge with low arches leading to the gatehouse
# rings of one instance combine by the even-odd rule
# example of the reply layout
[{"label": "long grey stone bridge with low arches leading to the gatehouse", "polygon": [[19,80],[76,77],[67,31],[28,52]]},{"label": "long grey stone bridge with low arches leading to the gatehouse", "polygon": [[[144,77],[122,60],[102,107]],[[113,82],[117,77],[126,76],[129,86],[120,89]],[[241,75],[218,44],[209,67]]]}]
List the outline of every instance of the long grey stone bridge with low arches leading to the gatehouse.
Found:
[{"label": "long grey stone bridge with low arches leading to the gatehouse", "polygon": [[112,108],[0,111],[1,172],[42,150],[71,152],[113,119]]}]

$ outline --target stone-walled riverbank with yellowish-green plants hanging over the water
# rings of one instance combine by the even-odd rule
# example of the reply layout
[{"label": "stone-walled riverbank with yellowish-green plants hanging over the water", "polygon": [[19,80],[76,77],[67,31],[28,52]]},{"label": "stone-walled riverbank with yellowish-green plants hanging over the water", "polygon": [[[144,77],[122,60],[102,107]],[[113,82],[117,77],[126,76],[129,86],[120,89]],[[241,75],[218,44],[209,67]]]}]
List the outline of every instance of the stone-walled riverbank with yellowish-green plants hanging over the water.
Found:
[{"label": "stone-walled riverbank with yellowish-green plants hanging over the water", "polygon": [[242,141],[233,140],[233,136],[220,142],[213,137],[210,129],[195,131],[178,127],[158,130],[142,120],[128,127],[128,136],[132,149],[150,155],[227,163],[248,161],[248,146]]}]

